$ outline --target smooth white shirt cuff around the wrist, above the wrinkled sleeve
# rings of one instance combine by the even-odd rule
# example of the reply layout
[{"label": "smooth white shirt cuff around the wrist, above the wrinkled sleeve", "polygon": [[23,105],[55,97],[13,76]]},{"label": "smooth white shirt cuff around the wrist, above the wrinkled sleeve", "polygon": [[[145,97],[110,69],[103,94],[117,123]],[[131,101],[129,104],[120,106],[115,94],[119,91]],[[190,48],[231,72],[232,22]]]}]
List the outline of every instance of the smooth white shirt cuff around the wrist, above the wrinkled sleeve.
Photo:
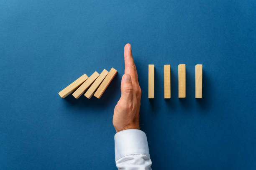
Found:
[{"label": "smooth white shirt cuff around the wrist, above the wrinkled sleeve", "polygon": [[138,129],[127,129],[115,134],[115,161],[133,154],[150,158],[146,134]]}]

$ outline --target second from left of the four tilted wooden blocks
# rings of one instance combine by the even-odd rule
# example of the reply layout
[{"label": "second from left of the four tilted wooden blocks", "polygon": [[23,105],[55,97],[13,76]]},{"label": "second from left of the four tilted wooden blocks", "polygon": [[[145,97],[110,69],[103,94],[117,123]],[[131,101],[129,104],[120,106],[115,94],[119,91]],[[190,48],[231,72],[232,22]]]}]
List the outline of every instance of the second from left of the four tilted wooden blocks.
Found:
[{"label": "second from left of the four tilted wooden blocks", "polygon": [[86,81],[84,81],[84,83],[72,94],[74,98],[78,99],[99,75],[100,74],[95,71]]}]

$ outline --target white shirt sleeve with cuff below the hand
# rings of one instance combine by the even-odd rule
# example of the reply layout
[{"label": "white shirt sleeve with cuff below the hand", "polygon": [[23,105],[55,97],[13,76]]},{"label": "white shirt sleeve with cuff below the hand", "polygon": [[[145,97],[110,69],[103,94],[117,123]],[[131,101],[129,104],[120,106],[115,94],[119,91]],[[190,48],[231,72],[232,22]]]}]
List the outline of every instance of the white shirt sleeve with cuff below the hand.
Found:
[{"label": "white shirt sleeve with cuff below the hand", "polygon": [[146,134],[127,129],[115,134],[115,164],[118,170],[151,170]]}]

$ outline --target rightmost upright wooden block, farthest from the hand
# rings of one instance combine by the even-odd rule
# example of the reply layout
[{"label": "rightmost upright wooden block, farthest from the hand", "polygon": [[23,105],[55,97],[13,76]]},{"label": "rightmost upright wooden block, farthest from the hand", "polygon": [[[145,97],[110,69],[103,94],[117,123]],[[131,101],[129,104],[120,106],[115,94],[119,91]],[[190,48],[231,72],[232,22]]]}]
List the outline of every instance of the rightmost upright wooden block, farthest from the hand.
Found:
[{"label": "rightmost upright wooden block, farthest from the hand", "polygon": [[202,98],[202,64],[195,66],[195,98]]}]

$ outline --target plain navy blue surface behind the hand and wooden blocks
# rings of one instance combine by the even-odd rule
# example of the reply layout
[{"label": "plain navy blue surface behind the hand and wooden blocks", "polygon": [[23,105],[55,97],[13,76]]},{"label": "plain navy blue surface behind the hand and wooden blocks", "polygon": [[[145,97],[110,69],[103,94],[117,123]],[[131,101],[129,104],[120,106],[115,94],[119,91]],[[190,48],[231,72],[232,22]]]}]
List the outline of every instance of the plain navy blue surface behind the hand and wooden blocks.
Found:
[{"label": "plain navy blue surface behind the hand and wooden blocks", "polygon": [[[0,169],[116,168],[112,117],[125,43],[153,169],[255,169],[255,28],[254,0],[0,0]],[[186,99],[178,99],[180,63]],[[164,64],[171,64],[167,100]],[[203,99],[195,99],[196,64]],[[101,99],[58,95],[82,74],[111,67],[118,74]]]}]

